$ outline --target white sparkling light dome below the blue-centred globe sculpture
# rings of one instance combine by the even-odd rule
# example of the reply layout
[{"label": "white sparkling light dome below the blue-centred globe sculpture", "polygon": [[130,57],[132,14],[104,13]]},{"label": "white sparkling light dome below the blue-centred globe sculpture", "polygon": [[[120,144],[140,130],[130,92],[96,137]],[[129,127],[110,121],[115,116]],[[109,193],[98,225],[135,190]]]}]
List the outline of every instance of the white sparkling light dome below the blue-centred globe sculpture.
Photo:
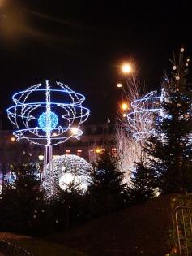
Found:
[{"label": "white sparkling light dome below the blue-centred globe sculpture", "polygon": [[[75,154],[64,154],[53,159],[53,174],[50,173],[49,164],[45,168],[43,177],[43,187],[49,196],[55,194],[57,186],[61,189],[69,189],[73,184],[81,190],[87,189],[90,182],[91,164],[86,160],[80,158]],[[53,177],[52,177],[53,176]],[[53,178],[53,191],[51,193],[50,187]]]}]

